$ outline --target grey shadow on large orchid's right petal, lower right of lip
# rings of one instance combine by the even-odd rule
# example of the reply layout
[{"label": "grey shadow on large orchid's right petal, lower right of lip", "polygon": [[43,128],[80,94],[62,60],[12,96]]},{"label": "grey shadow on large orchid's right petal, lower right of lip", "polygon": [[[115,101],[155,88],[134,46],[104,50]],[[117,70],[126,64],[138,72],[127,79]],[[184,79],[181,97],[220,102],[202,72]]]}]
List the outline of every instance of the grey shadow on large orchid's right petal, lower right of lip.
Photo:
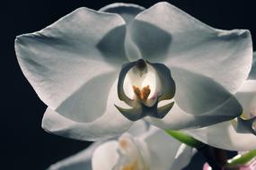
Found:
[{"label": "grey shadow on large orchid's right petal, lower right of lip", "polygon": [[177,67],[171,71],[176,83],[175,101],[187,113],[205,114],[234,97],[221,84],[202,74]]}]

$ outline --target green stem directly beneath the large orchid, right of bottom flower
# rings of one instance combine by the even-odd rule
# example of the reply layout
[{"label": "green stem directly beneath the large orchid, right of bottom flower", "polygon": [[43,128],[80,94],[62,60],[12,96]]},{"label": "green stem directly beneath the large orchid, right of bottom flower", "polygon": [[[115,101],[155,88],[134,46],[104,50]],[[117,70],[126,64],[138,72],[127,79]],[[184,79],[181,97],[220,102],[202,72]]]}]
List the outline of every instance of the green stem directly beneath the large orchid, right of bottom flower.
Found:
[{"label": "green stem directly beneath the large orchid, right of bottom flower", "polygon": [[188,145],[192,148],[199,149],[205,145],[201,141],[194,139],[193,137],[191,137],[190,135],[188,135],[184,132],[172,131],[172,130],[165,130],[165,132],[167,132],[169,135],[171,135],[176,140],[181,141],[181,143],[185,143],[186,145]]}]

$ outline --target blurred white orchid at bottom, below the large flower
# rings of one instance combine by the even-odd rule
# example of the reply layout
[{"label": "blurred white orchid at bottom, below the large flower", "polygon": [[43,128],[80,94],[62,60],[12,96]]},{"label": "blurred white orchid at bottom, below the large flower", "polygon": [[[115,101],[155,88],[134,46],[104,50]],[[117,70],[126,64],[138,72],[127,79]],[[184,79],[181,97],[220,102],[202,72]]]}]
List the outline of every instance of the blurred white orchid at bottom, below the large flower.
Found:
[{"label": "blurred white orchid at bottom, below the large flower", "polygon": [[163,130],[150,126],[134,136],[137,128],[122,134],[118,140],[93,143],[75,156],[57,162],[49,170],[181,170],[195,153]]}]

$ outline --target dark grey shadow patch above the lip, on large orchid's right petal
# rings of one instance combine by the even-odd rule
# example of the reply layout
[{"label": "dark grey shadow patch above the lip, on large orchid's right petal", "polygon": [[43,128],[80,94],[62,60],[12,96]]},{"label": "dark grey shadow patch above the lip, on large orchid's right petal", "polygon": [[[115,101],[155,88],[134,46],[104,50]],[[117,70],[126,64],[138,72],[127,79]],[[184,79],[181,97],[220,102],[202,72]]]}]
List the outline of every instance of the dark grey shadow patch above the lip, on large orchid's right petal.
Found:
[{"label": "dark grey shadow patch above the lip, on large orchid's right petal", "polygon": [[163,60],[168,55],[172,35],[145,21],[133,21],[130,36],[144,59],[150,62]]}]

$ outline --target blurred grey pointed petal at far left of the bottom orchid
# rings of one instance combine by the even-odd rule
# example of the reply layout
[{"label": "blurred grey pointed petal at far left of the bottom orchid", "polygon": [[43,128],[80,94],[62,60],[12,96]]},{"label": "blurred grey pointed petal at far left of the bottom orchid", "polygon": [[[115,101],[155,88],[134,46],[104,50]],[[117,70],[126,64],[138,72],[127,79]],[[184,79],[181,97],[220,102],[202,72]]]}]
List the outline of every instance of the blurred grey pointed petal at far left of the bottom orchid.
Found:
[{"label": "blurred grey pointed petal at far left of the bottom orchid", "polygon": [[101,144],[102,142],[93,143],[87,149],[49,166],[48,170],[92,170],[91,161],[93,152]]}]

